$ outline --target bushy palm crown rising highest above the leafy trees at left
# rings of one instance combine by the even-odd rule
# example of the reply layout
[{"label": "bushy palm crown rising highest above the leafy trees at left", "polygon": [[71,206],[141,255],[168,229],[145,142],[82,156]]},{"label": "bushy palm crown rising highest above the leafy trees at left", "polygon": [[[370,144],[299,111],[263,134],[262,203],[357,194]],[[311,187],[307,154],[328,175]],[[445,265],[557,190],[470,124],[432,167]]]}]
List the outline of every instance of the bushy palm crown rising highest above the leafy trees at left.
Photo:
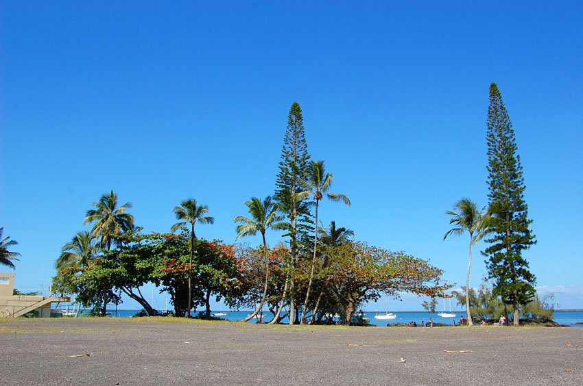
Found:
[{"label": "bushy palm crown rising highest above the leafy trees at left", "polygon": [[117,242],[124,231],[134,229],[134,216],[126,213],[132,207],[132,203],[125,203],[117,207],[117,194],[110,192],[99,198],[99,202],[93,203],[95,209],[89,209],[85,215],[83,224],[93,224],[91,234],[99,237],[99,245],[111,249],[111,243]]}]

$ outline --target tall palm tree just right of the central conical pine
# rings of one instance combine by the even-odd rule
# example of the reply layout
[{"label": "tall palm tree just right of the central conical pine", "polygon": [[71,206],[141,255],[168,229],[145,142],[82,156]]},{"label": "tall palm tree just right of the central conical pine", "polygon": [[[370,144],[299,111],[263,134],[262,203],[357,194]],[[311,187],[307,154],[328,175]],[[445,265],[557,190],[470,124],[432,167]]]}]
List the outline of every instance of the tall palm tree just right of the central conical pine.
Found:
[{"label": "tall palm tree just right of the central conical pine", "polygon": [[[346,205],[350,205],[350,200],[344,194],[328,193],[332,186],[332,175],[326,172],[324,161],[312,161],[308,170],[308,181],[300,179],[300,184],[305,188],[305,191],[296,194],[296,199],[303,200],[310,194],[313,194],[313,199],[316,201],[316,228],[318,227],[318,204],[324,198],[324,193],[332,201],[342,201]],[[313,237],[313,259],[310,273],[310,280],[308,282],[308,289],[306,298],[304,300],[304,307],[302,307],[302,316],[300,317],[300,324],[304,324],[304,316],[306,307],[308,305],[308,298],[310,296],[310,289],[313,281],[314,268],[316,268],[316,250],[318,248],[318,229],[314,231]]]}]

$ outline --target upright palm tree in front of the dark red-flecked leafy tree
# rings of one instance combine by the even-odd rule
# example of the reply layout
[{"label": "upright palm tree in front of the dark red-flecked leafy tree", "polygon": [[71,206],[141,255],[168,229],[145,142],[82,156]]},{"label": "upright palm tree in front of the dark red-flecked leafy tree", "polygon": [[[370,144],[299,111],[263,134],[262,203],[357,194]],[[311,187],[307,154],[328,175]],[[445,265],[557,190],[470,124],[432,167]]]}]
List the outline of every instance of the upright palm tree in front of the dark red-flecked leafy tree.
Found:
[{"label": "upright palm tree in front of the dark red-flecked leafy tree", "polygon": [[179,207],[174,207],[174,214],[176,214],[176,220],[182,220],[176,222],[170,228],[171,231],[176,232],[178,229],[185,227],[187,223],[191,224],[190,233],[190,266],[188,271],[188,310],[185,318],[190,317],[190,310],[192,308],[192,255],[194,253],[194,242],[196,240],[196,234],[194,233],[194,224],[198,221],[201,224],[214,224],[215,218],[205,216],[209,213],[209,207],[206,205],[198,205],[194,198],[189,198],[180,203]]}]

